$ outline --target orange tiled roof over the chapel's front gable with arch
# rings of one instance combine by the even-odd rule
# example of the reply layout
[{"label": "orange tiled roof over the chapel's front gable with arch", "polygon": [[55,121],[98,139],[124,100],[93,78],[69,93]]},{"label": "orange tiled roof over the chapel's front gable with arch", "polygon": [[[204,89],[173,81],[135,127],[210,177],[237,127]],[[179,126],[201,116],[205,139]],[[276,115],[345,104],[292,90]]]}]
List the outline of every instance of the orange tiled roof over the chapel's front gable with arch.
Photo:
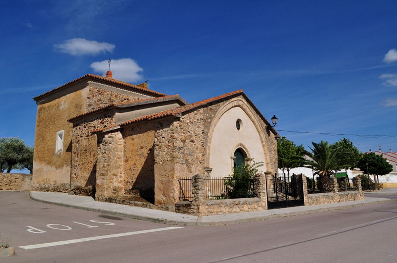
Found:
[{"label": "orange tiled roof over the chapel's front gable with arch", "polygon": [[[226,94],[223,94],[223,95],[220,95],[220,96],[217,96],[217,97],[213,97],[213,98],[210,98],[210,99],[207,99],[207,100],[199,101],[199,102],[196,102],[196,103],[170,108],[170,109],[158,112],[158,113],[148,114],[148,115],[145,115],[145,116],[142,116],[142,117],[138,117],[138,118],[135,118],[135,119],[132,119],[132,120],[128,120],[128,121],[122,122],[120,124],[116,124],[116,125],[109,126],[109,127],[104,127],[104,128],[101,128],[101,129],[97,129],[97,130],[94,130],[92,132],[93,133],[101,132],[101,131],[104,131],[104,130],[107,130],[107,129],[112,129],[112,128],[115,128],[115,127],[121,127],[121,126],[125,126],[125,125],[128,125],[128,124],[139,122],[139,121],[143,121],[143,120],[153,120],[153,119],[158,119],[158,118],[167,117],[167,116],[176,116],[176,115],[181,114],[183,112],[186,112],[188,110],[195,109],[195,108],[197,108],[199,106],[206,105],[206,104],[209,104],[211,102],[215,102],[215,101],[218,101],[218,100],[221,100],[221,99],[225,99],[225,98],[228,98],[228,97],[231,97],[231,96],[235,96],[235,95],[243,95],[246,98],[246,100],[256,109],[255,105],[248,99],[248,97],[244,94],[243,90],[237,90],[237,91],[226,93]],[[259,112],[259,110],[258,110],[258,112]],[[259,112],[259,114],[265,120],[265,122],[268,125],[270,125],[269,122],[262,115],[262,113]],[[276,135],[278,134],[271,125],[269,127],[273,131],[274,134],[276,134]]]}]

